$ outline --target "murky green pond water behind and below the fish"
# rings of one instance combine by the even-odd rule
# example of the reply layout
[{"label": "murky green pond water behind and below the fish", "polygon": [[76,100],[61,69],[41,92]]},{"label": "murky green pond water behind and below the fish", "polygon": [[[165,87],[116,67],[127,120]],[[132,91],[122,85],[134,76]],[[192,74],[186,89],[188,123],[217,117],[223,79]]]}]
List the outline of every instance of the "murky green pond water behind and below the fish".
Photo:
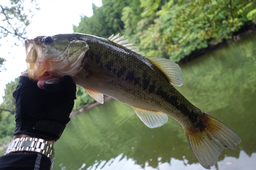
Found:
[{"label": "murky green pond water behind and below the fish", "polygon": [[[177,89],[196,107],[236,132],[212,169],[256,169],[256,36],[223,46],[182,66]],[[72,116],[55,144],[54,169],[204,169],[184,132],[169,117],[147,128],[132,107],[111,100]]]}]

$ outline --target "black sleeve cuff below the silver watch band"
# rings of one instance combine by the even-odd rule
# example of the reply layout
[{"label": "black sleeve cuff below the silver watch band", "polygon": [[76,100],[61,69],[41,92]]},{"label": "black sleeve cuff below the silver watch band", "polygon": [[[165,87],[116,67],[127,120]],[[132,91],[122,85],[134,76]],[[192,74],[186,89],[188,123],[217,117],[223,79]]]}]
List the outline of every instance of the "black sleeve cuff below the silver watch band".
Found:
[{"label": "black sleeve cuff below the silver watch band", "polygon": [[49,170],[50,158],[38,153],[12,153],[0,157],[0,169]]}]

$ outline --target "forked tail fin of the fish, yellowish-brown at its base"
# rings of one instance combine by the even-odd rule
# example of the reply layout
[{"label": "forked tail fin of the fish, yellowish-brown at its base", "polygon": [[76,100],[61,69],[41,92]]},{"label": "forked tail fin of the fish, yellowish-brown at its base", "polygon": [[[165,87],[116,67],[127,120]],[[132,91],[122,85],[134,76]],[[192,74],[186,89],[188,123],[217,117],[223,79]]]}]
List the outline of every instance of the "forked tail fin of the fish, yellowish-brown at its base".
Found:
[{"label": "forked tail fin of the fish, yellowish-brown at its base", "polygon": [[241,139],[219,120],[203,113],[208,120],[204,130],[197,133],[190,133],[185,128],[184,130],[195,157],[204,168],[210,169],[218,161],[222,150],[233,150],[232,145],[238,145]]}]

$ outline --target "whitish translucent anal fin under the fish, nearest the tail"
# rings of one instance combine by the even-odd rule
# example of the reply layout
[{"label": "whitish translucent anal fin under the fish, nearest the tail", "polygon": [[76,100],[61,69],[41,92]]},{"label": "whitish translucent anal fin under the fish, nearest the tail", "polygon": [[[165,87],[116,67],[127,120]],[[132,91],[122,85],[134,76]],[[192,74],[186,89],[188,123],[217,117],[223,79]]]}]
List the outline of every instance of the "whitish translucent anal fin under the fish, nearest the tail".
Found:
[{"label": "whitish translucent anal fin under the fish, nearest the tail", "polygon": [[168,121],[166,114],[159,111],[150,111],[133,107],[137,116],[148,128],[156,128],[164,125]]}]

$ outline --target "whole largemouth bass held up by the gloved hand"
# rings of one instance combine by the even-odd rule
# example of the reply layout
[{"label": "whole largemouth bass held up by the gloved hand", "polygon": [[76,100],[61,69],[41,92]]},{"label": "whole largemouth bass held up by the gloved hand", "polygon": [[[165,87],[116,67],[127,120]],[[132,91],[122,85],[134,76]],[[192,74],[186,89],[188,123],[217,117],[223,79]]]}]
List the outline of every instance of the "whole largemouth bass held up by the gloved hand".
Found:
[{"label": "whole largemouth bass held up by the gloved hand", "polygon": [[180,66],[165,58],[141,55],[124,36],[57,34],[25,40],[29,78],[45,71],[72,76],[98,103],[103,95],[131,105],[149,128],[164,125],[168,116],[184,129],[191,151],[206,169],[222,150],[233,150],[241,139],[216,118],[191,104],[176,88],[183,84]]}]

